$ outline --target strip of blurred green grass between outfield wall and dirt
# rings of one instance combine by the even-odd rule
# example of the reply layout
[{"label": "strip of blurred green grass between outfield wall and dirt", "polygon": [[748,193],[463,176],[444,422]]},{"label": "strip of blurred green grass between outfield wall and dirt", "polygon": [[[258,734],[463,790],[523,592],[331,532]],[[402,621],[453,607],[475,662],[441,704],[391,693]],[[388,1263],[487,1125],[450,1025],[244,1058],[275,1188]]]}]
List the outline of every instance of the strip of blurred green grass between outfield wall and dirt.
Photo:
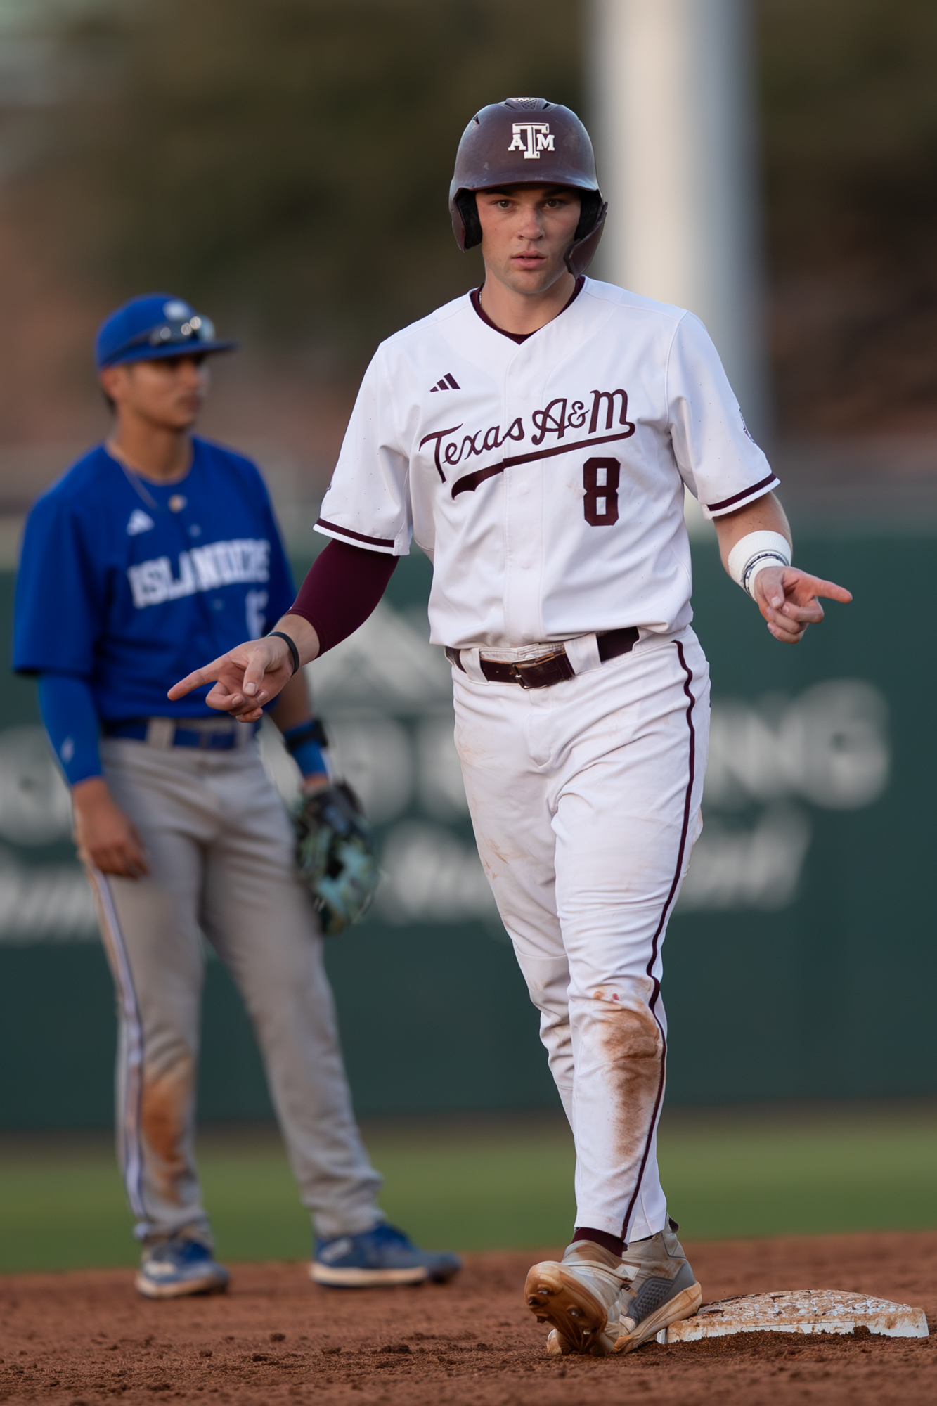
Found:
[{"label": "strip of blurred green grass between outfield wall and dirt", "polygon": [[[546,1115],[366,1128],[391,1220],[426,1246],[561,1244],[573,1149]],[[308,1256],[308,1218],[273,1129],[208,1129],[198,1160],[227,1260]],[[933,1105],[671,1112],[660,1135],[688,1237],[937,1227]],[[131,1219],[103,1135],[0,1139],[0,1271],[132,1264]]]}]

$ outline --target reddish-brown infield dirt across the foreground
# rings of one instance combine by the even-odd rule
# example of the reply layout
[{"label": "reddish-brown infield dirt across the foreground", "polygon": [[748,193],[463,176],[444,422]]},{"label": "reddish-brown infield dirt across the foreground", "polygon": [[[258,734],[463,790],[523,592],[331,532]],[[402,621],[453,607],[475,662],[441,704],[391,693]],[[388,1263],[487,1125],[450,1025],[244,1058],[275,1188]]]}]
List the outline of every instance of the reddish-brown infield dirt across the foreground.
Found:
[{"label": "reddish-brown infield dirt across the foreground", "polygon": [[[923,1305],[937,1232],[688,1244],[703,1299],[833,1288]],[[760,1333],[547,1358],[523,1305],[556,1251],[470,1256],[450,1285],[314,1288],[302,1264],[234,1267],[228,1295],[136,1298],[128,1270],[0,1278],[0,1400],[380,1402],[388,1406],[902,1406],[934,1400],[937,1340]]]}]

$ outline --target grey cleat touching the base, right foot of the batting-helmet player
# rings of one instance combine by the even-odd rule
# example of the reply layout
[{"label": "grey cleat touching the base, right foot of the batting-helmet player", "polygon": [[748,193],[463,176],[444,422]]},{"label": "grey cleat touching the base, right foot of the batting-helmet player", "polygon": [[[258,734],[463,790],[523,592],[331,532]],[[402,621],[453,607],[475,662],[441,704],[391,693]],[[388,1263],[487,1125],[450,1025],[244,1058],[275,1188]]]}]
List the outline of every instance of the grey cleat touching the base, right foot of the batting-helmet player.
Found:
[{"label": "grey cleat touching the base, right foot of the batting-helmet player", "polygon": [[625,1247],[623,1263],[633,1277],[619,1303],[620,1336],[613,1353],[633,1353],[668,1323],[698,1312],[702,1289],[677,1239],[678,1229],[668,1218],[664,1230]]}]

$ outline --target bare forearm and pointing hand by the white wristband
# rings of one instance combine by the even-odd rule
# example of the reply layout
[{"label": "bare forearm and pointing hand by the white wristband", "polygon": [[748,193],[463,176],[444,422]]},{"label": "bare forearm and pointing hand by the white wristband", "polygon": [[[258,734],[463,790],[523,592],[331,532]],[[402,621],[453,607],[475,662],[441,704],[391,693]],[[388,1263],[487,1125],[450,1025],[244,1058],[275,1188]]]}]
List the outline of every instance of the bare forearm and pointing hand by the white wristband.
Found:
[{"label": "bare forearm and pointing hand by the white wristband", "polygon": [[[729,557],[739,543],[751,533],[778,533],[792,546],[791,526],[784,508],[774,494],[765,494],[753,503],[739,508],[734,513],[713,517],[719,554],[729,575],[736,579]],[[798,644],[808,626],[823,619],[820,598],[840,600],[843,605],[853,596],[833,581],[812,576],[799,567],[788,567],[779,560],[765,558],[751,581],[750,595],[764,616],[768,630],[781,644]],[[746,588],[748,589],[748,588]]]}]

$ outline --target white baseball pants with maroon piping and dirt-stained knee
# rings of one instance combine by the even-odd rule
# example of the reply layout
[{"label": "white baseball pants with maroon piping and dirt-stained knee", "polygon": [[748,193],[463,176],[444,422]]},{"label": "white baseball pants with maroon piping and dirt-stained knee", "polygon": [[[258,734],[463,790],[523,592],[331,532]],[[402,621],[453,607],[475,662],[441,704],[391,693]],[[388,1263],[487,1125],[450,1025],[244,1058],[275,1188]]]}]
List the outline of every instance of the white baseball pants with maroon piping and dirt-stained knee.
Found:
[{"label": "white baseball pants with maroon piping and dirt-stained knee", "polygon": [[461,659],[456,748],[573,1128],[575,1223],[637,1240],[667,1212],[661,948],[701,830],[709,666],[689,628],[602,665],[592,651],[597,666],[544,689],[490,683],[474,651]]}]

